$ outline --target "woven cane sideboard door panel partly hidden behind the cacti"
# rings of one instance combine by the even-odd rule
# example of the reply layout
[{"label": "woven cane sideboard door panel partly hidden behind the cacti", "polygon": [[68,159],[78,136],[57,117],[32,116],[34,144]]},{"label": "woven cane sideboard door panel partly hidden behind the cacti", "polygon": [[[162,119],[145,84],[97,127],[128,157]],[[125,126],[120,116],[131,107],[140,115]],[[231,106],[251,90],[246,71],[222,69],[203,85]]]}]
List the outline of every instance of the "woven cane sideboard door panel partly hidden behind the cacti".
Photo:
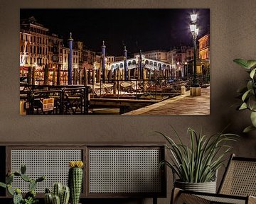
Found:
[{"label": "woven cane sideboard door panel partly hidden behind the cacti", "polygon": [[[44,193],[52,188],[53,183],[68,184],[68,162],[82,160],[81,149],[11,149],[11,171],[20,172],[21,164],[26,164],[26,174],[31,179],[46,176],[38,183],[37,193]],[[13,186],[28,192],[28,182],[14,177]]]}]

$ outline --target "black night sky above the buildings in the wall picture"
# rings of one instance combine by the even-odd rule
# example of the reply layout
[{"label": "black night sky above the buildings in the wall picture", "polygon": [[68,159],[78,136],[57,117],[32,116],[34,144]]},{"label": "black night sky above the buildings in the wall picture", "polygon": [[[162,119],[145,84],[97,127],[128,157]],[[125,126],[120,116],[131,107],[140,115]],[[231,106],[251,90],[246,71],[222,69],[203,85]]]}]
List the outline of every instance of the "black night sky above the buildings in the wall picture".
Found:
[{"label": "black night sky above the buildings in the wall picture", "polygon": [[38,9],[22,8],[20,18],[34,16],[38,23],[63,38],[69,33],[90,50],[101,51],[105,40],[107,55],[123,55],[124,45],[131,55],[139,50],[170,50],[193,45],[190,14],[198,13],[198,38],[208,33],[210,9]]}]

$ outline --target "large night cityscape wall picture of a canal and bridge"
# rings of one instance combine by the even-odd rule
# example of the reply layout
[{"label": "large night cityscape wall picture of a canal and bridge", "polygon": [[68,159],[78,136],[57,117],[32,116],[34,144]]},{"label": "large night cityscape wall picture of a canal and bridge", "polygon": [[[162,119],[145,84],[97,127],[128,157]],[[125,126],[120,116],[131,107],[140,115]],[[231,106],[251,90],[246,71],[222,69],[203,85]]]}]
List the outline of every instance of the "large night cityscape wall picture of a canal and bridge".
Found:
[{"label": "large night cityscape wall picture of a canal and bridge", "polygon": [[21,115],[210,114],[210,9],[21,8]]}]

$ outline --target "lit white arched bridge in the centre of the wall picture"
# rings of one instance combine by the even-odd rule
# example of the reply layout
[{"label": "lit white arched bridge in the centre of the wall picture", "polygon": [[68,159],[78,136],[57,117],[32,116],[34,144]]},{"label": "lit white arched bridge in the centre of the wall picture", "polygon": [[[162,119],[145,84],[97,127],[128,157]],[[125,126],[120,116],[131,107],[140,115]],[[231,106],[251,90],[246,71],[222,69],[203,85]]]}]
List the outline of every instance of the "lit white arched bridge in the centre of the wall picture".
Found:
[{"label": "lit white arched bridge in the centre of the wall picture", "polygon": [[[125,61],[119,61],[119,62],[112,62],[110,64],[110,69],[114,71],[114,69],[124,69],[124,63]],[[133,58],[127,59],[127,70],[129,69],[136,69],[139,68],[140,64],[140,55],[136,55]],[[184,77],[184,67],[178,66],[177,64],[169,64],[167,62],[162,62],[160,60],[152,60],[149,58],[146,58],[145,55],[142,55],[142,67],[150,70],[151,72],[154,72],[156,69],[157,71],[162,70],[168,70],[171,74],[171,77]],[[132,71],[132,70],[131,70]]]}]

